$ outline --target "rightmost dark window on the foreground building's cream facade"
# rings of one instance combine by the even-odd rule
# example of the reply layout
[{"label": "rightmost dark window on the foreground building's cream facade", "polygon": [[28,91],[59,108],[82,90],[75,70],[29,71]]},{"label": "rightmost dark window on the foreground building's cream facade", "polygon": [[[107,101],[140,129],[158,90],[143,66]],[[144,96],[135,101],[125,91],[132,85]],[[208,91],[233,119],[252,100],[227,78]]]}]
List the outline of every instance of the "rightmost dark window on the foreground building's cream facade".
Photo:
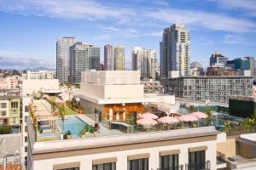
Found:
[{"label": "rightmost dark window on the foreground building's cream facade", "polygon": [[200,170],[206,167],[206,150],[189,152],[189,170]]}]

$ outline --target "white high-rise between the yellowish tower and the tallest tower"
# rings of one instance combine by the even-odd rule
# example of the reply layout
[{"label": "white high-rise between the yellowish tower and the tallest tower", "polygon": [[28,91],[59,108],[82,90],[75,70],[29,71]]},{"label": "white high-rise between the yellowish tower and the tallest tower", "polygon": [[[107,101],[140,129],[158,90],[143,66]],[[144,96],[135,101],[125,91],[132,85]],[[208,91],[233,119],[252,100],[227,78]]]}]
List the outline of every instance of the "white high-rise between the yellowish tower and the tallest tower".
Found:
[{"label": "white high-rise between the yellowish tower and the tallest tower", "polygon": [[156,52],[146,48],[132,48],[131,68],[133,71],[141,71],[142,78],[155,79],[159,72]]}]

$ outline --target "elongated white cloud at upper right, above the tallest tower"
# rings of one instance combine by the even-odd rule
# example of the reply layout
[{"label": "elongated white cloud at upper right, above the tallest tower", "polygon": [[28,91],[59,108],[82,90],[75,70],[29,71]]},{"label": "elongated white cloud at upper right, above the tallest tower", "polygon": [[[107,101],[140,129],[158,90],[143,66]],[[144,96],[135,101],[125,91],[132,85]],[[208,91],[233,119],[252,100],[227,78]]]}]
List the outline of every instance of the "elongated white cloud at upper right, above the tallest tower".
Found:
[{"label": "elongated white cloud at upper right, above the tallest tower", "polygon": [[224,14],[211,14],[195,10],[161,9],[148,13],[154,20],[169,23],[205,27],[215,31],[254,31],[256,23],[251,20],[237,19]]}]

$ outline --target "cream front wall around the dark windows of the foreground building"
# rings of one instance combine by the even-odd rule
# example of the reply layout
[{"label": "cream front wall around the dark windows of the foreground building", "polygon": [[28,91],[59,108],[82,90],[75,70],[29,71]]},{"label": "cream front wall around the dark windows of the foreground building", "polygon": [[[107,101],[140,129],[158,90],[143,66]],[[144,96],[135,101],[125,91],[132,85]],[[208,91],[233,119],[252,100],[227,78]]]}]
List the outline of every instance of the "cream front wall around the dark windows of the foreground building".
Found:
[{"label": "cream front wall around the dark windows of the foreground building", "polygon": [[[176,144],[176,145],[167,145],[159,146],[152,148],[143,148],[139,150],[124,150],[124,151],[114,151],[101,154],[92,154],[92,155],[81,155],[81,156],[70,156],[70,157],[61,157],[55,159],[46,159],[33,161],[33,169],[35,170],[52,170],[55,164],[68,163],[80,161],[81,170],[92,170],[92,160],[102,159],[108,157],[117,157],[116,169],[125,170],[127,169],[127,156],[149,153],[150,157],[148,158],[148,169],[156,170],[159,167],[160,162],[160,151],[162,150],[180,150],[179,154],[179,164],[185,166],[189,161],[189,148],[198,147],[198,146],[207,146],[206,150],[206,160],[211,161],[211,169],[217,169],[216,167],[216,141],[204,141],[190,144]],[[184,167],[185,168],[185,167]]]}]

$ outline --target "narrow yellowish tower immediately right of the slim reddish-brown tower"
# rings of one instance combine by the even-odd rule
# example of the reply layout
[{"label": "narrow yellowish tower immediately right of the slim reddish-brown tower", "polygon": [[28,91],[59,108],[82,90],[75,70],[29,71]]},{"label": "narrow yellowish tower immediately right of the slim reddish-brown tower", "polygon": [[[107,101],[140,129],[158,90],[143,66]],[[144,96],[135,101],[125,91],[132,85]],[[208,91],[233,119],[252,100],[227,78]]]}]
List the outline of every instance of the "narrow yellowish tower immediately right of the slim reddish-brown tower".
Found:
[{"label": "narrow yellowish tower immediately right of the slim reddish-brown tower", "polygon": [[114,70],[124,71],[125,70],[125,48],[124,46],[114,47]]}]

